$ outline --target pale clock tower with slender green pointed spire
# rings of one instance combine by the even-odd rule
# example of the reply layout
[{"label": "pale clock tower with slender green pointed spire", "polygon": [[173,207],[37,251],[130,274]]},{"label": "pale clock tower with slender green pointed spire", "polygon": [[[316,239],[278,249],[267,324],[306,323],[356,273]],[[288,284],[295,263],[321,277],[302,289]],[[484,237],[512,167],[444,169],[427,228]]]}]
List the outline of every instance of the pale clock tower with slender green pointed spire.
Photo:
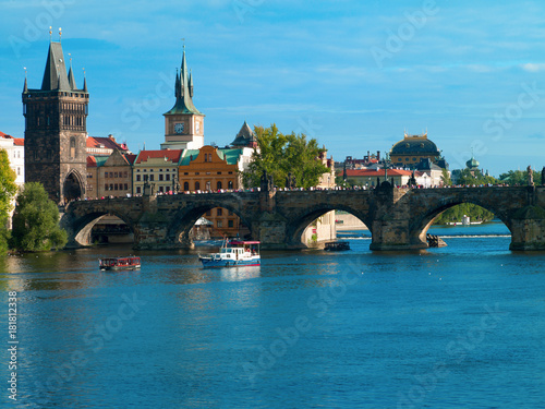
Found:
[{"label": "pale clock tower with slender green pointed spire", "polygon": [[161,149],[198,149],[204,146],[204,115],[193,105],[193,76],[187,73],[185,47],[180,73],[175,74],[175,104],[165,116]]}]

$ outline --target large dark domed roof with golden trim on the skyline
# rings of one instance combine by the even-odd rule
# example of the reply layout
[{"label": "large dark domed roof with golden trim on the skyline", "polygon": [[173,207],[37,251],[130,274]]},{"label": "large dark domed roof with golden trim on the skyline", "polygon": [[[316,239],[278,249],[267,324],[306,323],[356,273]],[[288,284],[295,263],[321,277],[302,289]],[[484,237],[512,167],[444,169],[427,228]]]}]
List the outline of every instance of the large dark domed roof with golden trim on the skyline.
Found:
[{"label": "large dark domed roof with golden trim on the skyline", "polygon": [[422,135],[405,133],[403,140],[391,147],[390,160],[393,166],[415,168],[422,159],[441,166],[441,154],[437,145],[427,139],[427,132]]}]

